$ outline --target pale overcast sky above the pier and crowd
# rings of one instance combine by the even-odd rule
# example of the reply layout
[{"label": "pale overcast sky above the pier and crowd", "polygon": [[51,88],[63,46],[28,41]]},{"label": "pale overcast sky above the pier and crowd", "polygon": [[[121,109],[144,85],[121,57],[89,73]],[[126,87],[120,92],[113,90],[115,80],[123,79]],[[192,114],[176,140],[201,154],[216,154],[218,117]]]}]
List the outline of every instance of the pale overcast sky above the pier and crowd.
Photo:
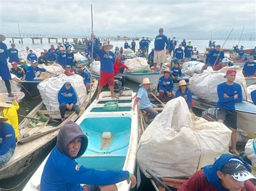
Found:
[{"label": "pale overcast sky above the pier and crowd", "polygon": [[255,0],[0,0],[0,32],[91,33],[97,36],[154,37],[159,27],[176,38],[256,36]]}]

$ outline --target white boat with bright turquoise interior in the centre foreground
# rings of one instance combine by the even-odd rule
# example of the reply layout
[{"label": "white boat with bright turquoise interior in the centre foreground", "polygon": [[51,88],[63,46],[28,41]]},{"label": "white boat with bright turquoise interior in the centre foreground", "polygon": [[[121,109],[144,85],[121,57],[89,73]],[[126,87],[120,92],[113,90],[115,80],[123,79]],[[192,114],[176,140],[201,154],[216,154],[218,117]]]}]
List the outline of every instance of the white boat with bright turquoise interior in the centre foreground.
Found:
[{"label": "white boat with bright turquoise interior in the centre foreground", "polygon": [[[87,150],[76,159],[79,164],[87,168],[123,169],[134,173],[138,144],[138,109],[130,111],[134,103],[131,97],[134,95],[135,93],[131,90],[124,91],[123,96],[120,96],[118,100],[119,111],[104,112],[104,104],[112,101],[110,92],[105,91],[100,94],[99,100],[93,101],[79,117],[76,123],[90,137]],[[142,119],[140,125],[143,125],[143,118],[140,119]],[[111,138],[102,138],[103,132],[111,132]],[[47,159],[32,175],[23,190],[36,190]],[[117,183],[118,190],[130,190],[130,186],[126,181]]]}]

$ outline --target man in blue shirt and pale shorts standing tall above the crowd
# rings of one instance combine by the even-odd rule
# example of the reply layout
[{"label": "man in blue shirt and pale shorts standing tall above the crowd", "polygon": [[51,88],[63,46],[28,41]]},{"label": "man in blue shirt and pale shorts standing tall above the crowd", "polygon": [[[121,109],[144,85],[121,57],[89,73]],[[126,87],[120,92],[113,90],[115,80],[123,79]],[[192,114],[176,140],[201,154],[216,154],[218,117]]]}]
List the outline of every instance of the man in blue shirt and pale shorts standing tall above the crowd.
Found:
[{"label": "man in blue shirt and pale shorts standing tall above the crowd", "polygon": [[159,34],[154,39],[154,73],[157,72],[157,64],[160,63],[160,69],[165,61],[165,46],[168,45],[168,38],[164,35],[164,29],[159,29]]}]

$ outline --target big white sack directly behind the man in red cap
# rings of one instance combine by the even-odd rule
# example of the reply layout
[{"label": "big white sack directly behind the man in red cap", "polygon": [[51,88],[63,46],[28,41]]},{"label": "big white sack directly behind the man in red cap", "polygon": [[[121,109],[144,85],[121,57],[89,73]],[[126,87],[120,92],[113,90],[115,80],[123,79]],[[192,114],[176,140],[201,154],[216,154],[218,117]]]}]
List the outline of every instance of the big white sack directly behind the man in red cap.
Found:
[{"label": "big white sack directly behind the man in red cap", "polygon": [[234,82],[241,85],[242,98],[246,100],[246,81],[239,66],[224,67],[218,71],[213,71],[212,67],[208,67],[202,74],[193,75],[190,78],[190,89],[193,94],[208,102],[218,102],[217,86],[227,81],[224,76],[228,69],[237,70]]}]

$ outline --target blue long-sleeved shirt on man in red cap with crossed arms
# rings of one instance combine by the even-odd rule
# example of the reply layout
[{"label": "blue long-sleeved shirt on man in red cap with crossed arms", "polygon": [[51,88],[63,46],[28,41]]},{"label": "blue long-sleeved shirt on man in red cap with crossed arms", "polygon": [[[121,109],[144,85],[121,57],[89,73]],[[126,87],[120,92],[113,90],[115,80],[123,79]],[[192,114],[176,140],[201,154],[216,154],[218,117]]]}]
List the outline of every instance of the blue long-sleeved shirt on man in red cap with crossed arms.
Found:
[{"label": "blue long-sleeved shirt on man in red cap with crossed arms", "polygon": [[[235,103],[242,102],[242,89],[240,84],[233,83],[229,86],[224,83],[220,83],[217,87],[219,101],[216,104],[217,108],[226,109],[226,110],[235,110]],[[224,97],[224,94],[229,97]],[[238,98],[234,99],[234,95],[237,94]]]}]

